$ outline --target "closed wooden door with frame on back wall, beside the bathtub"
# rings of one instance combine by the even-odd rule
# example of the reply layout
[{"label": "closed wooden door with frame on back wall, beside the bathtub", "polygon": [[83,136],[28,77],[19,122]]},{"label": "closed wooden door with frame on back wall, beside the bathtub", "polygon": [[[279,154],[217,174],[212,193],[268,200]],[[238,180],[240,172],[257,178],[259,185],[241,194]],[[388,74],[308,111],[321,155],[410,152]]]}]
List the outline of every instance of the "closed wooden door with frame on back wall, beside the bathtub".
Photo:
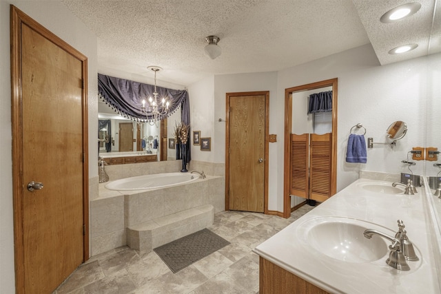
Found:
[{"label": "closed wooden door with frame on back wall, beside the bathtub", "polygon": [[227,209],[266,209],[268,98],[268,92],[227,94]]}]

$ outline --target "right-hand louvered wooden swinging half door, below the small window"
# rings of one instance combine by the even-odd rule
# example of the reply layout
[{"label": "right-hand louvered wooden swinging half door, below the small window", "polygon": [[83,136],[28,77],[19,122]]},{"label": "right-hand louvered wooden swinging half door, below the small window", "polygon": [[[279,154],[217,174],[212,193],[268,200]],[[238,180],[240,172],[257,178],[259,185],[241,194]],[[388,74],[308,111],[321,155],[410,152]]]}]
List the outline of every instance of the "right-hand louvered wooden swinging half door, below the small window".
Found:
[{"label": "right-hand louvered wooden swinging half door, below the small window", "polygon": [[323,202],[331,196],[332,134],[311,134],[309,199]]}]

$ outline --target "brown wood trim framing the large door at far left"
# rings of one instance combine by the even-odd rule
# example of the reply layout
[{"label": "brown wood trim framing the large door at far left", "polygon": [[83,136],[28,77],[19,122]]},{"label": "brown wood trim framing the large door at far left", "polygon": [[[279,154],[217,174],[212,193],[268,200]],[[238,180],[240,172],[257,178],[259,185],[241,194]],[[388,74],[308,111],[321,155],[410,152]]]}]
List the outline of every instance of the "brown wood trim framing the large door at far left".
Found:
[{"label": "brown wood trim framing the large door at far left", "polygon": [[14,207],[14,263],[16,293],[24,293],[24,242],[23,242],[23,117],[21,115],[21,25],[27,25],[59,48],[81,61],[83,74],[83,259],[89,259],[89,167],[88,167],[88,59],[81,52],[55,36],[50,30],[34,21],[17,7],[10,6],[11,43],[11,122],[12,122],[12,202]]}]

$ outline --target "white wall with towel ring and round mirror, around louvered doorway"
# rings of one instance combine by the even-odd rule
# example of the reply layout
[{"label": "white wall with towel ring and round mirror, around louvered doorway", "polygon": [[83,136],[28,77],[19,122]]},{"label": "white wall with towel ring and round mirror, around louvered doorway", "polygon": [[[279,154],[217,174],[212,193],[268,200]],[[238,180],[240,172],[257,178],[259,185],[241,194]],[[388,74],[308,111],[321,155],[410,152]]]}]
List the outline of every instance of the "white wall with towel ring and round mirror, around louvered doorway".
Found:
[{"label": "white wall with towel ring and round mirror, around louvered doorway", "polygon": [[[441,55],[431,59],[439,65]],[[360,170],[408,171],[401,160],[407,159],[412,147],[425,144],[427,97],[433,96],[428,92],[429,73],[436,68],[433,61],[422,57],[380,66],[371,45],[364,45],[279,72],[279,93],[288,87],[338,78],[338,191],[356,180]],[[367,129],[366,138],[383,143],[387,141],[387,127],[395,120],[404,120],[409,129],[396,147],[374,145],[368,149],[367,164],[345,162],[347,137],[353,125],[362,123]],[[283,152],[283,145],[278,152]],[[424,165],[424,161],[417,162],[412,167],[414,174],[423,174]],[[281,177],[282,162],[278,162],[278,172]],[[283,195],[278,194],[279,209],[282,203]]]}]

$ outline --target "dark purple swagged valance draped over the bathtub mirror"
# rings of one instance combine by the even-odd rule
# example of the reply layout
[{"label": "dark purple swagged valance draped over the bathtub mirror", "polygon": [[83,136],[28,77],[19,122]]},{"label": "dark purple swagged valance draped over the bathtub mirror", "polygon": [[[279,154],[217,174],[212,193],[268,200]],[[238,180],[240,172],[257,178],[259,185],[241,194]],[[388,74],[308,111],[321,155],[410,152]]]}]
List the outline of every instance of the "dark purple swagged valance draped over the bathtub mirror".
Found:
[{"label": "dark purple swagged valance draped over the bathtub mirror", "polygon": [[[148,97],[153,96],[153,92],[154,85],[98,74],[98,94],[101,99],[116,112],[131,120],[152,121],[152,117],[147,117],[141,112],[141,107],[143,100],[147,101]],[[156,92],[158,92],[158,98],[166,98],[170,102],[169,111],[160,116],[161,120],[172,115],[176,109],[181,107],[181,120],[185,125],[190,125],[190,103],[186,90],[172,90],[156,86]],[[163,109],[161,105],[158,108],[160,112]],[[190,140],[187,141],[186,149],[187,162],[192,159],[189,142]],[[181,150],[179,149],[176,150],[176,159],[180,158]]]}]

